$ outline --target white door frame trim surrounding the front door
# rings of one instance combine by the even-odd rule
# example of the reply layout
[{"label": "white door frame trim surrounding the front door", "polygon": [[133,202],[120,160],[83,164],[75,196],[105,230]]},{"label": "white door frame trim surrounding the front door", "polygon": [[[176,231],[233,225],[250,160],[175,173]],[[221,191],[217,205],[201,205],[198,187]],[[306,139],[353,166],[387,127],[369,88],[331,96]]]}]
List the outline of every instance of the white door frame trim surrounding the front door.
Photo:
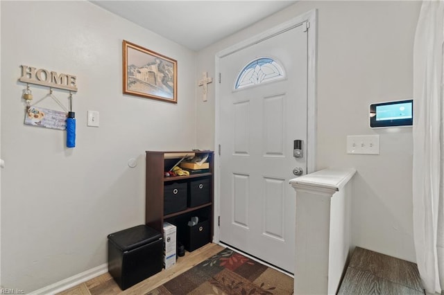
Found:
[{"label": "white door frame trim surrounding the front door", "polygon": [[[307,155],[307,173],[315,171],[316,168],[316,60],[317,60],[317,35],[318,35],[318,24],[317,17],[318,11],[316,9],[309,10],[308,12],[302,13],[297,17],[293,17],[289,21],[286,21],[278,26],[266,30],[263,33],[259,33],[253,37],[250,37],[243,42],[239,42],[225,48],[214,57],[214,77],[219,77],[221,58],[230,55],[236,51],[240,51],[248,46],[253,46],[258,42],[263,41],[283,33],[284,31],[295,28],[296,26],[304,25],[308,22],[309,28],[307,32],[307,143],[306,152]],[[220,198],[221,198],[221,163],[219,155],[219,144],[220,140],[220,128],[221,128],[221,116],[220,116],[220,100],[221,100],[221,87],[218,81],[216,81],[214,87],[214,242],[219,243],[219,215],[220,210]],[[296,210],[296,209],[295,209]]]}]

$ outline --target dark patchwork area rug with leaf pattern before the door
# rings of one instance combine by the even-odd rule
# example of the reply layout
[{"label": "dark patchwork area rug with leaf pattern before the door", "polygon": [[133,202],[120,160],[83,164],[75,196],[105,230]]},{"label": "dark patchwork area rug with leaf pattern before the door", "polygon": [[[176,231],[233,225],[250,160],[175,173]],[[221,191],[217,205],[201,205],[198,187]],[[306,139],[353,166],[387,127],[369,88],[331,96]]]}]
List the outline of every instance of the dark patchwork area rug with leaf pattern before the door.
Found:
[{"label": "dark patchwork area rug with leaf pattern before the door", "polygon": [[293,278],[226,248],[148,294],[293,294]]}]

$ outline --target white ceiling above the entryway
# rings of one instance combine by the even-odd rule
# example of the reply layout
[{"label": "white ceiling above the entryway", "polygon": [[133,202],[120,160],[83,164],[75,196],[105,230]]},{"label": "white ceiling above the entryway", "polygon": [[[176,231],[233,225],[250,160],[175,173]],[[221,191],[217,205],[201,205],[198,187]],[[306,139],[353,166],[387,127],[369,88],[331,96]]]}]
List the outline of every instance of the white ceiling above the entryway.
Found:
[{"label": "white ceiling above the entryway", "polygon": [[90,1],[194,51],[199,51],[296,2]]}]

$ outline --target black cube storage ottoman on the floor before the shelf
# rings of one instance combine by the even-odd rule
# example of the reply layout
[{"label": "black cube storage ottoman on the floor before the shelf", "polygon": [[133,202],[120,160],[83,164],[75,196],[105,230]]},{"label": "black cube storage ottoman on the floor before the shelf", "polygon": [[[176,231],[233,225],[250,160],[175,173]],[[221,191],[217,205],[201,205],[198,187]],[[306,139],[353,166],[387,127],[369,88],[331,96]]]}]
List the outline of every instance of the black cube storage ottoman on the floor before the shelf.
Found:
[{"label": "black cube storage ottoman on the floor before the shelf", "polygon": [[124,290],[162,270],[162,234],[139,225],[108,235],[108,271]]}]

